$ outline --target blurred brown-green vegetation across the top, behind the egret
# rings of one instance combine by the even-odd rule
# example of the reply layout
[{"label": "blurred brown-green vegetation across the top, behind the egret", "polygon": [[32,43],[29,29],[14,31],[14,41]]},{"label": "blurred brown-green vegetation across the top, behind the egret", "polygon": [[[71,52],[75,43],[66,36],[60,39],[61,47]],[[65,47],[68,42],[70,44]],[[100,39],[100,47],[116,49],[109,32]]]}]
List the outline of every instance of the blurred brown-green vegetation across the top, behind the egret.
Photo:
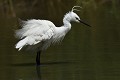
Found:
[{"label": "blurred brown-green vegetation across the top, behind the egret", "polygon": [[106,10],[119,18],[119,4],[119,0],[0,0],[0,16],[22,19],[42,18],[56,21],[62,19],[61,15],[64,15],[74,5],[80,5],[83,7],[81,11],[83,14],[86,14],[83,12],[84,9],[88,14],[98,11],[98,9],[102,10],[102,7],[107,6]]}]

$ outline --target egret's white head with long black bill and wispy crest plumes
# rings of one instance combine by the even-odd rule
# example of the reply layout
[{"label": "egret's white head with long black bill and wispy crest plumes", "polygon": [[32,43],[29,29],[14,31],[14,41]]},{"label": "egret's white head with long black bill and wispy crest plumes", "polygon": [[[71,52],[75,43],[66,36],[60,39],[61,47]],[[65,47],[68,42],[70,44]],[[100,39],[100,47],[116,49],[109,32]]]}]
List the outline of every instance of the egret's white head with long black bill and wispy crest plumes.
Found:
[{"label": "egret's white head with long black bill and wispy crest plumes", "polygon": [[[80,6],[74,6],[74,7],[72,8],[72,10],[65,15],[64,19],[66,19],[66,20],[69,21],[69,22],[75,21],[75,22],[83,23],[83,24],[91,27],[90,25],[88,25],[87,23],[85,23],[84,21],[82,21],[82,20],[80,19],[80,17],[74,12],[74,11],[80,11],[80,10],[78,10],[78,9],[75,9],[75,7],[80,7]],[[81,7],[80,7],[80,8],[81,8]]]}]

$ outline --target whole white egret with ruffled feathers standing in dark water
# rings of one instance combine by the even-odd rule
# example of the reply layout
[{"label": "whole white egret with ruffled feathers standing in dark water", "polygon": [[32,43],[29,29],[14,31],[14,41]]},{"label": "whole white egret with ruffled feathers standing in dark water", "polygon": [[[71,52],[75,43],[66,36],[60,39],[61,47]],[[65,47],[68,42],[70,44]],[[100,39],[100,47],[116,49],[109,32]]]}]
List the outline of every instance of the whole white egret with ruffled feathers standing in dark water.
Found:
[{"label": "whole white egret with ruffled feathers standing in dark water", "polygon": [[56,27],[49,20],[36,20],[31,19],[28,21],[22,21],[22,29],[16,30],[16,37],[21,39],[15,48],[19,51],[23,47],[27,47],[32,51],[37,52],[36,64],[40,65],[40,53],[46,50],[51,44],[60,42],[65,37],[66,33],[71,29],[71,21],[84,23],[80,17],[74,12],[74,6],[72,10],[64,15],[63,26]]}]

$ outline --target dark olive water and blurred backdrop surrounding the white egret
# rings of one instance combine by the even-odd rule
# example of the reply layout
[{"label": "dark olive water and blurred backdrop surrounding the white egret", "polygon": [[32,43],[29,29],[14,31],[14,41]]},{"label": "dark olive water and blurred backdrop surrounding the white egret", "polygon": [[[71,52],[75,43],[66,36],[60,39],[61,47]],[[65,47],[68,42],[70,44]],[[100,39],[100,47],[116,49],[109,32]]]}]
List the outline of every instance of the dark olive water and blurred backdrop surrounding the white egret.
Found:
[{"label": "dark olive water and blurred backdrop surrounding the white egret", "polygon": [[[7,4],[5,11],[3,6],[0,8],[0,80],[120,79],[119,0],[47,3],[41,0],[34,4],[21,0],[13,4],[13,10],[7,8]],[[48,19],[60,26],[63,15],[74,5],[83,7],[77,14],[92,27],[72,23],[72,30],[62,44],[42,53],[40,67],[35,65],[36,53],[18,52],[14,48],[18,41],[14,38],[14,30],[19,28],[14,16],[24,20]]]}]

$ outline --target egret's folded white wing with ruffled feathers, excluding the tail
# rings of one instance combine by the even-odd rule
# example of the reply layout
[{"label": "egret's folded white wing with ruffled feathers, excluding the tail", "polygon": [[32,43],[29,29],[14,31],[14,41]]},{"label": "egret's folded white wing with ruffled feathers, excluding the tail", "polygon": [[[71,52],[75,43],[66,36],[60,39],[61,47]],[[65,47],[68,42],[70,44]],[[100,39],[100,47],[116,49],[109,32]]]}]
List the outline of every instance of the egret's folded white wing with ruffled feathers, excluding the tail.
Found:
[{"label": "egret's folded white wing with ruffled feathers, excluding the tail", "polygon": [[54,33],[55,25],[52,22],[32,19],[24,21],[22,29],[16,30],[16,37],[22,40],[27,38],[25,45],[35,45],[52,38]]}]

